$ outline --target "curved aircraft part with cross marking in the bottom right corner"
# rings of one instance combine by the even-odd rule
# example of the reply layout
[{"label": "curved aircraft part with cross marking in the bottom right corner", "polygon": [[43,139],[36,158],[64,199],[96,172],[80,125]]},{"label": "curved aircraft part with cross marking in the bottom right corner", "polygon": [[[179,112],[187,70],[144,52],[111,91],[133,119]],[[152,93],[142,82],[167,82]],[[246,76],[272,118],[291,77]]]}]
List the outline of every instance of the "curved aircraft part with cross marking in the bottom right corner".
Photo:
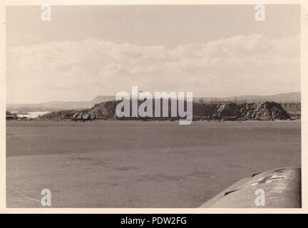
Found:
[{"label": "curved aircraft part with cross marking in the bottom right corner", "polygon": [[200,207],[302,207],[301,169],[299,167],[283,167],[244,178]]}]

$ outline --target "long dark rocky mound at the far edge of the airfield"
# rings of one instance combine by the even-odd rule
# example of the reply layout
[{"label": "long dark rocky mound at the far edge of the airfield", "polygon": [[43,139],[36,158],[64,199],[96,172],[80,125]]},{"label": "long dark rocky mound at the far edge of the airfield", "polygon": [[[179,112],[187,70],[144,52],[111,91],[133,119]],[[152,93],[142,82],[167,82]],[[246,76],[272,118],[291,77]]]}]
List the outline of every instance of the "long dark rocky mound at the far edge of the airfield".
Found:
[{"label": "long dark rocky mound at the far edge of the airfield", "polygon": [[[120,101],[107,101],[98,103],[93,108],[85,110],[62,110],[58,112],[48,113],[43,116],[45,119],[71,119],[71,120],[94,120],[94,119],[118,119],[116,117],[116,105]],[[138,102],[138,105],[143,103]],[[162,102],[161,102],[162,105]],[[131,103],[130,103],[131,107]],[[153,119],[170,119],[171,103],[169,100],[169,116],[168,118]],[[160,107],[162,113],[163,107]],[[131,112],[131,108],[130,108]],[[153,113],[155,105],[153,102]],[[287,120],[289,114],[284,110],[281,104],[274,102],[261,103],[193,103],[193,115],[198,119],[223,119],[223,120]],[[202,118],[204,117],[204,118]],[[197,119],[195,118],[195,119]],[[121,118],[123,120],[133,120],[136,118]],[[149,119],[149,118],[147,118]],[[174,119],[174,118],[173,118]],[[176,118],[175,118],[176,119]]]}]

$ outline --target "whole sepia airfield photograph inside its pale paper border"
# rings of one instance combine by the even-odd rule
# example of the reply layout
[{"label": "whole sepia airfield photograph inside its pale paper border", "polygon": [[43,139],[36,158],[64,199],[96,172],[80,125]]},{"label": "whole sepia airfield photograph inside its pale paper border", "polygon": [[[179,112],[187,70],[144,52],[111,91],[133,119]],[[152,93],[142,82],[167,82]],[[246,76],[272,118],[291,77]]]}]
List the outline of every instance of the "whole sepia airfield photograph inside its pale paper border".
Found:
[{"label": "whole sepia airfield photograph inside its pale paper border", "polygon": [[299,4],[6,6],[7,208],[301,208]]}]

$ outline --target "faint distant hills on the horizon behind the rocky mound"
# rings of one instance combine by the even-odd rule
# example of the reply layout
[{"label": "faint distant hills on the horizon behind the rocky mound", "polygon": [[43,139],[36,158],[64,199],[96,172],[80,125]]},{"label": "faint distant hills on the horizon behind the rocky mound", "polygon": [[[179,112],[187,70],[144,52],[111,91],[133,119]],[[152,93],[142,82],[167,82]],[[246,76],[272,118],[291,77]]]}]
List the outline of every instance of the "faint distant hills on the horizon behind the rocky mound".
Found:
[{"label": "faint distant hills on the horizon behind the rocky mound", "polygon": [[[81,110],[92,108],[97,103],[102,103],[109,100],[115,100],[112,95],[98,95],[93,100],[89,101],[50,101],[48,103],[36,104],[6,104],[6,110],[18,112],[35,112],[35,111],[58,111],[58,110]],[[300,103],[301,93],[280,93],[277,95],[238,95],[227,98],[194,98],[198,103],[211,103],[232,101],[235,103],[257,103],[265,101],[274,101],[277,103]]]}]

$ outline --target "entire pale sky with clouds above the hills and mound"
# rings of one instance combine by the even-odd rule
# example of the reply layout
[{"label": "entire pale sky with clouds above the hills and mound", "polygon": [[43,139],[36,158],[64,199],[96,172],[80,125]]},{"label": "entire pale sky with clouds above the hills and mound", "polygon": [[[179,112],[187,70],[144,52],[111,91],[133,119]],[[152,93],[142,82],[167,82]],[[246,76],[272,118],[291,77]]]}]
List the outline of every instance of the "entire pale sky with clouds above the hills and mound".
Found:
[{"label": "entire pale sky with clouds above the hills and mound", "polygon": [[300,91],[300,8],[266,5],[6,7],[6,100],[192,91]]}]

